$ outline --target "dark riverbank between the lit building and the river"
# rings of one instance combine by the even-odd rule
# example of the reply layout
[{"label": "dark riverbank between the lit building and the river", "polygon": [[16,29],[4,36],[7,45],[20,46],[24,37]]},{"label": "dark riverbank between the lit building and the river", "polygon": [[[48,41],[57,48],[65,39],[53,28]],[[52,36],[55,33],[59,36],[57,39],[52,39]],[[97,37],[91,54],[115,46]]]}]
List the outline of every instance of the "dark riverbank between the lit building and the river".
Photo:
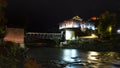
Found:
[{"label": "dark riverbank between the lit building and the river", "polygon": [[120,51],[119,39],[95,40],[93,42],[82,42],[55,46],[56,48],[81,49],[83,51]]}]

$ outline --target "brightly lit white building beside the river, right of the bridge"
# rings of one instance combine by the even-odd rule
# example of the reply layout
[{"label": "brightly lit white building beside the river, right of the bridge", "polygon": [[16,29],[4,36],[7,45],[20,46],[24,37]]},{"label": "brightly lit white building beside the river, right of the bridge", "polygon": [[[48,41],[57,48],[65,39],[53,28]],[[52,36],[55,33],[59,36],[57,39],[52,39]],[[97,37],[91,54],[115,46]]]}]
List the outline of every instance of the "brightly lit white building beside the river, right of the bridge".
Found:
[{"label": "brightly lit white building beside the river, right of the bridge", "polygon": [[96,30],[94,23],[83,21],[79,16],[60,23],[59,29],[64,41],[76,40],[81,36],[90,36]]}]

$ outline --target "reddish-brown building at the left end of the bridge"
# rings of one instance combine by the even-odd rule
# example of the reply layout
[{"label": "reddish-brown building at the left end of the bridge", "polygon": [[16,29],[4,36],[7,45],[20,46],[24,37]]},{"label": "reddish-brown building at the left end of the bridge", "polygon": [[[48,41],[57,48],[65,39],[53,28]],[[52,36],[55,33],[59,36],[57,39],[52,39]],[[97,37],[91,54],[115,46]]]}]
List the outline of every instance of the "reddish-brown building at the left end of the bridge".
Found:
[{"label": "reddish-brown building at the left end of the bridge", "polygon": [[7,34],[4,41],[12,41],[15,43],[24,43],[24,29],[22,28],[7,28]]}]

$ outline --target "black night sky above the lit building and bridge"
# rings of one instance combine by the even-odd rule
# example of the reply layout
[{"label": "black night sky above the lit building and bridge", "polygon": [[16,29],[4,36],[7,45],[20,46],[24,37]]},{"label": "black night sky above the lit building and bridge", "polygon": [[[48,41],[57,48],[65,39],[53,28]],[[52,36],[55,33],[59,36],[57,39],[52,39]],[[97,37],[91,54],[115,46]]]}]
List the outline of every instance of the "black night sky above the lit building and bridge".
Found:
[{"label": "black night sky above the lit building and bridge", "polygon": [[58,23],[75,15],[87,19],[108,10],[116,12],[120,0],[7,0],[9,25],[23,26],[31,31],[49,32]]}]

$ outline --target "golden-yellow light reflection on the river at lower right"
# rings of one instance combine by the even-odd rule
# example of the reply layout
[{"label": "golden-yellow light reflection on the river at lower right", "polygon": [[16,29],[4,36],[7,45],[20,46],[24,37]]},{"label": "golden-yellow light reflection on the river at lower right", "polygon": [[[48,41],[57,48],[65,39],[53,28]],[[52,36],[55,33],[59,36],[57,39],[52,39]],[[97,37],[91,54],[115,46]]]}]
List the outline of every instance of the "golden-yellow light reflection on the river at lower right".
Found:
[{"label": "golden-yellow light reflection on the river at lower right", "polygon": [[96,60],[96,61],[106,61],[112,62],[114,60],[120,59],[120,53],[117,52],[96,52],[96,51],[89,51],[88,52],[88,60]]}]

